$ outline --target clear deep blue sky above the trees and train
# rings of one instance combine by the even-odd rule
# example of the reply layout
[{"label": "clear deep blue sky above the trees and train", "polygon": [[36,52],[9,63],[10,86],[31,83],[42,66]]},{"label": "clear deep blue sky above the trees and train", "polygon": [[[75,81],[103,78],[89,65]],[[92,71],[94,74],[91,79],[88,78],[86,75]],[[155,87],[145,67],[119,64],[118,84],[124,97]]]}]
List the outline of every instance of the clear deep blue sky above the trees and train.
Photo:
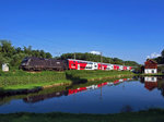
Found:
[{"label": "clear deep blue sky above the trees and train", "polygon": [[143,63],[164,49],[164,0],[0,0],[0,39]]}]

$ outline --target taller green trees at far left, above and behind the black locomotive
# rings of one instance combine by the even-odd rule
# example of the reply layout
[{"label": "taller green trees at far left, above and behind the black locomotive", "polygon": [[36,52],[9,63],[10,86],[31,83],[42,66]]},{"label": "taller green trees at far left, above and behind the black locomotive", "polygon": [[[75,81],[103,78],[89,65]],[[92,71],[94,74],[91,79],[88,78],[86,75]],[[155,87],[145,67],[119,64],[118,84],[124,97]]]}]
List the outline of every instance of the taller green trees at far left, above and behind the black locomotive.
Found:
[{"label": "taller green trees at far left, above and behind the black locomotive", "polygon": [[19,66],[25,57],[52,58],[49,52],[44,50],[33,50],[28,47],[13,47],[11,41],[0,40],[0,65],[9,63],[11,66]]}]

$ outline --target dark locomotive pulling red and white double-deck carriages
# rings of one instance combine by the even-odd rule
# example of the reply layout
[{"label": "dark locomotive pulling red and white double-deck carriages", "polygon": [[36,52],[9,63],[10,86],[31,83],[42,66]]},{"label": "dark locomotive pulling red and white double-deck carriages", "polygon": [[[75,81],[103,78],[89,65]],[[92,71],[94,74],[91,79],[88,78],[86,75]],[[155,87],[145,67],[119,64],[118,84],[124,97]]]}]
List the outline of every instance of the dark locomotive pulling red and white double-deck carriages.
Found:
[{"label": "dark locomotive pulling red and white double-deck carriages", "polygon": [[65,71],[65,70],[118,70],[118,71],[131,71],[131,66],[101,63],[84,60],[56,60],[56,59],[43,59],[43,58],[25,58],[20,69],[25,71]]}]

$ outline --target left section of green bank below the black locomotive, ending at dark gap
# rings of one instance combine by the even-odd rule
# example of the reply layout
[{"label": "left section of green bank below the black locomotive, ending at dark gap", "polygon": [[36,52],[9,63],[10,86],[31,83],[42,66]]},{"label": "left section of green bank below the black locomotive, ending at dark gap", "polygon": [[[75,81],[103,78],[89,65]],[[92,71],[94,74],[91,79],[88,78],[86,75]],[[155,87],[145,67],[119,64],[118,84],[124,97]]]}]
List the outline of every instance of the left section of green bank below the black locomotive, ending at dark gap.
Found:
[{"label": "left section of green bank below the black locomotive, ending at dark gap", "polygon": [[71,83],[67,80],[65,72],[38,72],[28,73],[14,71],[0,74],[0,88],[10,89],[31,89],[58,83]]}]

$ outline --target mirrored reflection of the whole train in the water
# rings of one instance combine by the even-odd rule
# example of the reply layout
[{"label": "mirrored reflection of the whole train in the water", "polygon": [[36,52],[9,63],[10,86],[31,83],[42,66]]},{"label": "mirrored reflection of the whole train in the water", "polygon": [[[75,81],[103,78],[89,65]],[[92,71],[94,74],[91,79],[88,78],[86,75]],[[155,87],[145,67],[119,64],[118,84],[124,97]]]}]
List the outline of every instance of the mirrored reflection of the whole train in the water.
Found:
[{"label": "mirrored reflection of the whole train in the water", "polygon": [[75,88],[75,89],[55,91],[55,93],[46,94],[46,95],[31,96],[31,97],[24,98],[23,101],[34,103],[34,102],[38,102],[38,101],[49,99],[49,98],[54,98],[54,97],[70,96],[70,95],[78,94],[78,93],[81,93],[81,91],[102,88],[103,86],[114,86],[114,85],[120,84],[122,82],[128,82],[128,81],[132,81],[132,78],[122,78],[122,80],[117,80],[113,83],[112,82],[105,82],[105,83],[101,83],[101,84],[97,84],[97,85],[91,85],[91,86],[86,86],[86,87],[79,87],[79,88]]}]

